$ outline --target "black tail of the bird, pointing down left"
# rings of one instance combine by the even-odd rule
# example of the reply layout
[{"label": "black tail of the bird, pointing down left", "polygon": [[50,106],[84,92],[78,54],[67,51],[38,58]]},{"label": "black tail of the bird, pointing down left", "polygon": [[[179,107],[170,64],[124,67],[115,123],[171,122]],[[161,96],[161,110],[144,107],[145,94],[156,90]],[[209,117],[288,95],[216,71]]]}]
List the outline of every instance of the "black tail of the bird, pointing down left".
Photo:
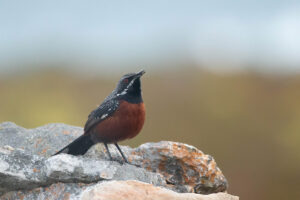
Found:
[{"label": "black tail of the bird, pointing down left", "polygon": [[54,155],[60,153],[67,153],[71,155],[83,155],[87,152],[87,150],[89,150],[91,146],[93,146],[93,144],[94,142],[91,140],[90,135],[82,135]]}]

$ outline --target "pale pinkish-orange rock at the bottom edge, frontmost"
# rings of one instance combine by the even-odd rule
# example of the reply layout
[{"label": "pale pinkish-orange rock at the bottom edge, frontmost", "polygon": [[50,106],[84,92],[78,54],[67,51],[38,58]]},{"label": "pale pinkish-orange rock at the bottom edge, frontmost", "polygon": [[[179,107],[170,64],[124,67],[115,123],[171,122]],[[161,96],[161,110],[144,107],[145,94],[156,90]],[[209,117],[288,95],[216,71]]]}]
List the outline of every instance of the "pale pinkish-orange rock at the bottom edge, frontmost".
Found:
[{"label": "pale pinkish-orange rock at the bottom edge, frontmost", "polygon": [[109,181],[86,189],[82,200],[238,200],[238,197],[217,193],[210,195],[176,193],[139,181]]}]

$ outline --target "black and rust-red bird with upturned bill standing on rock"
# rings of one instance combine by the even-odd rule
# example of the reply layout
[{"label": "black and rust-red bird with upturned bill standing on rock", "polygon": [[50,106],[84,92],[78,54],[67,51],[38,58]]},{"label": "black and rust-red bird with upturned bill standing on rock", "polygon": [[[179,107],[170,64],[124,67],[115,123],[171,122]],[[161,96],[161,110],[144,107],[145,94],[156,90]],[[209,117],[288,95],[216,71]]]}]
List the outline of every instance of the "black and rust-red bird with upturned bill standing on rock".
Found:
[{"label": "black and rust-red bird with upturned bill standing on rock", "polygon": [[146,110],[140,78],[144,73],[141,70],[122,76],[111,94],[89,114],[83,135],[54,155],[84,155],[94,144],[103,143],[110,160],[113,160],[107,144],[114,144],[128,163],[118,142],[135,137],[143,128]]}]

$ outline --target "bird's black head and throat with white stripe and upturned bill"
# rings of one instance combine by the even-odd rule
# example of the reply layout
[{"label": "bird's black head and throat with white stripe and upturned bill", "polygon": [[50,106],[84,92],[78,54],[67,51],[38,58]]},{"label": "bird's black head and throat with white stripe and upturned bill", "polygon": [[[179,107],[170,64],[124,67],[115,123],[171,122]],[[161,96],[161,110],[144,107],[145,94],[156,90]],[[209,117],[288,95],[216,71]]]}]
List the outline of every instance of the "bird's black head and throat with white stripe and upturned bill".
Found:
[{"label": "bird's black head and throat with white stripe and upturned bill", "polygon": [[140,78],[144,73],[145,71],[141,70],[122,76],[116,88],[116,96],[131,103],[142,102]]}]

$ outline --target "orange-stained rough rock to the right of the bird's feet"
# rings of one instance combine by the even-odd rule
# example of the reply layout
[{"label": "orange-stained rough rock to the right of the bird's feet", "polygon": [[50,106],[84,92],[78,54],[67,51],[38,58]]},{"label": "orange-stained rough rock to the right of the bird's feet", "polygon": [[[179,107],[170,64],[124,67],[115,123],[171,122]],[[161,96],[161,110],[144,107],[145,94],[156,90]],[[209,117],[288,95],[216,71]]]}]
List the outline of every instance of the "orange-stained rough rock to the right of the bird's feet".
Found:
[{"label": "orange-stained rough rock to the right of the bird's feet", "polygon": [[[122,160],[113,146],[110,149],[114,158]],[[210,194],[227,190],[227,180],[213,157],[193,146],[162,141],[122,149],[131,164],[162,174],[170,189],[177,192]],[[108,159],[102,144],[91,148],[87,156]]]}]

